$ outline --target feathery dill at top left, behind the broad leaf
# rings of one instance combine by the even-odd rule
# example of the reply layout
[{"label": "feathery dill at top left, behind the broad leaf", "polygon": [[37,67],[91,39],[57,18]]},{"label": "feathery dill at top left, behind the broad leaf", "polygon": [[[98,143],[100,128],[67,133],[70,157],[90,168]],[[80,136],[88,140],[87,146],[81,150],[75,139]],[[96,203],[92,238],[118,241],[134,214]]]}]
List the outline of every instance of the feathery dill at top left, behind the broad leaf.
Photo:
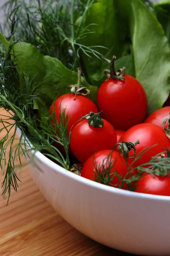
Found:
[{"label": "feathery dill at top left, behind the broad leaf", "polygon": [[[85,46],[81,39],[88,36],[89,26],[83,27],[85,14],[95,0],[8,0],[3,11],[5,23],[1,31],[7,39],[35,45],[44,55],[58,58],[65,67],[83,67],[80,52],[99,58],[102,46]],[[94,24],[91,24],[94,25]],[[90,26],[91,26],[90,25]],[[10,32],[10,34],[9,34]],[[9,34],[9,35],[8,35]]]}]

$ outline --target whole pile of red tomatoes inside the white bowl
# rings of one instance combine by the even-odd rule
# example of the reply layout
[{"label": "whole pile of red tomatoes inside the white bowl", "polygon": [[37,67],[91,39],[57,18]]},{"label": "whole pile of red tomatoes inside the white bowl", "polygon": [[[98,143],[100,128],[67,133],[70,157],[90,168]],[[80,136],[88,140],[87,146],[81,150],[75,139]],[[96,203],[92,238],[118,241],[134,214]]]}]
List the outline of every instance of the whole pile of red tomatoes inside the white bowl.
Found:
[{"label": "whole pile of red tomatoes inside the white bowl", "polygon": [[[163,119],[170,114],[170,107],[161,108],[145,119],[147,96],[142,85],[132,76],[124,75],[124,70],[116,72],[113,61],[110,77],[99,87],[97,106],[78,93],[82,87],[79,84],[75,85],[74,93],[59,96],[50,111],[54,108],[59,120],[59,110],[62,112],[65,109],[70,118],[70,152],[82,163],[81,176],[98,181],[101,169],[102,174],[109,169],[108,181],[104,174],[100,175],[99,182],[103,177],[103,183],[127,189],[124,178],[127,180],[136,175],[138,166],[147,167],[152,157],[161,155],[165,148],[170,150],[170,140],[162,128]],[[133,155],[134,150],[128,148],[125,161],[125,155],[120,154],[116,143],[136,141],[136,154]],[[110,165],[108,160],[113,164]],[[162,177],[146,172],[136,182],[135,191],[170,196],[169,174]]]}]

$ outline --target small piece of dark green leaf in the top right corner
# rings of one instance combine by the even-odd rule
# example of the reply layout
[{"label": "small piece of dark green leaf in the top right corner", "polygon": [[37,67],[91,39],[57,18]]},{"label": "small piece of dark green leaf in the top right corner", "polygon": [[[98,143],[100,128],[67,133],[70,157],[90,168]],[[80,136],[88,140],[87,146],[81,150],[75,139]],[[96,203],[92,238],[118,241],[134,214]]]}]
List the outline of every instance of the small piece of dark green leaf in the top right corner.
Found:
[{"label": "small piece of dark green leaf in the top right corner", "polygon": [[170,44],[170,0],[162,0],[155,5],[156,17],[163,26],[165,35]]}]

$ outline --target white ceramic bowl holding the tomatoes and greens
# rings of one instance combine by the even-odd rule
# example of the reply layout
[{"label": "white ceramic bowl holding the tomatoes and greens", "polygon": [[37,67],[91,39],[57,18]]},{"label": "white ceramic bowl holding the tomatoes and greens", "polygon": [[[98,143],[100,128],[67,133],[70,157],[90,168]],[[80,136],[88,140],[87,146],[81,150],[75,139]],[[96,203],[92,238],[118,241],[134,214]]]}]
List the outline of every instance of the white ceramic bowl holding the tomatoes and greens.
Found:
[{"label": "white ceramic bowl holding the tomatoes and greens", "polygon": [[30,172],[51,206],[86,236],[128,253],[170,256],[170,197],[96,183],[40,152],[35,153]]}]

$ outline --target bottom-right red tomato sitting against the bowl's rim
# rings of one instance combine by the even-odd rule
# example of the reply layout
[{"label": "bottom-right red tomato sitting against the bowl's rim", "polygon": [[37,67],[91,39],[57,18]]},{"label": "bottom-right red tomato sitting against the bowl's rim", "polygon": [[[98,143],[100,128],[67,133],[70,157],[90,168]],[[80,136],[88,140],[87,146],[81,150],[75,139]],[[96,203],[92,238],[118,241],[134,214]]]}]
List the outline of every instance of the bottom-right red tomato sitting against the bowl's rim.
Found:
[{"label": "bottom-right red tomato sitting against the bowl's rim", "polygon": [[170,196],[170,176],[159,177],[145,173],[136,183],[135,192]]}]

